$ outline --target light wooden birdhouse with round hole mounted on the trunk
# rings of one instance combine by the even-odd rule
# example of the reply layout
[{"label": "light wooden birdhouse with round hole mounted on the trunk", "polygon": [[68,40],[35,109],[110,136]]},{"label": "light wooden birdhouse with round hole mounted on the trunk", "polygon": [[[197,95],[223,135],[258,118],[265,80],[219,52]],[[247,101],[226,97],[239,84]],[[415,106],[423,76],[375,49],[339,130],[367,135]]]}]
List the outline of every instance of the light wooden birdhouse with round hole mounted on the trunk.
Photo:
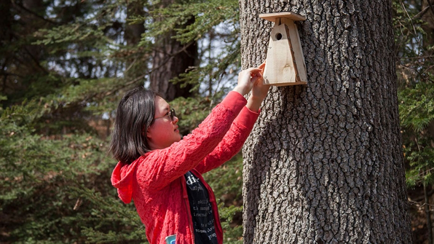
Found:
[{"label": "light wooden birdhouse with round hole mounted on the trunk", "polygon": [[305,21],[306,18],[292,12],[261,14],[259,17],[275,23],[267,50],[264,84],[306,84],[306,65],[298,29],[294,24],[294,21]]}]

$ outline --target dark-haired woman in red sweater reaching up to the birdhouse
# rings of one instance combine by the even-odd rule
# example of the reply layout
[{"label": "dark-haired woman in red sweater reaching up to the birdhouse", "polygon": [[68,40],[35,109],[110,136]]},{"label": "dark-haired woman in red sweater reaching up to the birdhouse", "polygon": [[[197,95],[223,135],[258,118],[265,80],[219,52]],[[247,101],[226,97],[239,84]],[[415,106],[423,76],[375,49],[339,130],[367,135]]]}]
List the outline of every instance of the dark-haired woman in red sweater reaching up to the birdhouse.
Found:
[{"label": "dark-haired woman in red sweater reaching up to the birdhouse", "polygon": [[201,174],[243,146],[269,89],[264,66],[240,72],[234,90],[182,140],[175,111],[154,92],[134,89],[120,101],[111,182],[123,202],[134,200],[151,244],[223,243],[215,197]]}]

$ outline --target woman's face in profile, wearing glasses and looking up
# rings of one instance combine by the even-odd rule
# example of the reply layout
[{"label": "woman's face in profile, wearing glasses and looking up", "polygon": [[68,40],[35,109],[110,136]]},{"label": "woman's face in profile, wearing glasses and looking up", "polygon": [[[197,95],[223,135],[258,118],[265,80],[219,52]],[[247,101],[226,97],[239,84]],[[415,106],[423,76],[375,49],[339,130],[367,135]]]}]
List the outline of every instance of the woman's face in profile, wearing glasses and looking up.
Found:
[{"label": "woman's face in profile, wearing glasses and looking up", "polygon": [[170,106],[161,97],[155,97],[154,123],[148,128],[146,136],[152,150],[163,149],[181,140],[178,130],[178,118],[170,117]]}]

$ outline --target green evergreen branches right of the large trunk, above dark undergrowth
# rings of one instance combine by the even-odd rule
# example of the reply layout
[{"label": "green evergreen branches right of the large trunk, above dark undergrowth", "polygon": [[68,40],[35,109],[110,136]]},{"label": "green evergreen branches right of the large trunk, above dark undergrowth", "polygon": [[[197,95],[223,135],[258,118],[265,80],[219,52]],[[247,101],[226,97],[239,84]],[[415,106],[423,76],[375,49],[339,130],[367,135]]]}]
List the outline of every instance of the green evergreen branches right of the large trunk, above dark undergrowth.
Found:
[{"label": "green evergreen branches right of the large trunk, above dark undergrowth", "polygon": [[431,12],[413,1],[394,1],[393,7],[406,181],[409,187],[429,185],[434,182],[434,43],[426,17]]}]

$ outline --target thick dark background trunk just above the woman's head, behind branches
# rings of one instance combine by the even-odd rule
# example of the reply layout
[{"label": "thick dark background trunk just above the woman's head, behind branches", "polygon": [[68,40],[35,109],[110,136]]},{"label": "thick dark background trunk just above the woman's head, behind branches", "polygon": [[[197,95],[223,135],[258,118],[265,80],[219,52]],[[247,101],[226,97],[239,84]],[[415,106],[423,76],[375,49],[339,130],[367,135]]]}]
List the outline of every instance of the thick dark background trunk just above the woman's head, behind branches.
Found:
[{"label": "thick dark background trunk just above the woman's head, behind branches", "polygon": [[[161,1],[161,7],[166,7],[173,2],[174,0]],[[181,87],[181,84],[173,84],[169,81],[186,73],[197,60],[195,42],[182,45],[172,36],[173,33],[168,33],[156,38],[156,49],[152,55],[152,72],[149,77],[151,89],[160,93],[167,101],[191,96],[191,85]]]}]

